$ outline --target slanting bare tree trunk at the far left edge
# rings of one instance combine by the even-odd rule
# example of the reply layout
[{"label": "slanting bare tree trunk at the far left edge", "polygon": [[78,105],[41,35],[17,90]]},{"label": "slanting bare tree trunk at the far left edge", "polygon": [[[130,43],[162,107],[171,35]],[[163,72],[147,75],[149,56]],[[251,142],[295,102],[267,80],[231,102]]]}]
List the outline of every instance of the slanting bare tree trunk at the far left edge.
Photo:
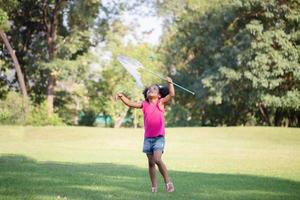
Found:
[{"label": "slanting bare tree trunk at the far left edge", "polygon": [[27,112],[28,111],[28,95],[27,95],[26,85],[25,85],[24,76],[23,76],[23,73],[21,70],[21,66],[16,57],[15,51],[13,50],[13,48],[11,47],[11,45],[8,41],[7,35],[1,29],[0,29],[0,36],[1,36],[2,40],[4,41],[4,44],[5,44],[6,48],[8,49],[9,54],[13,60],[13,63],[14,63],[14,66],[15,66],[15,69],[17,72],[19,87],[20,87],[21,93],[23,95],[25,112]]}]

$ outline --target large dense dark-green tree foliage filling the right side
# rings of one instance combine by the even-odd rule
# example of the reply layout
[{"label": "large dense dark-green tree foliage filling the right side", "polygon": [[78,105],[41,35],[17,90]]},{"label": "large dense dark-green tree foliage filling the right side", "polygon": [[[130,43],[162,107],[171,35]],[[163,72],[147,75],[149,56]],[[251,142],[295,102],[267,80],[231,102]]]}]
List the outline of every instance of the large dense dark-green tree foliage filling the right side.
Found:
[{"label": "large dense dark-green tree foliage filling the right side", "polygon": [[[299,27],[296,1],[224,1],[205,14],[190,9],[164,38],[165,62],[175,81],[198,91],[191,101],[198,124],[299,126]],[[184,80],[189,81],[184,82]],[[201,103],[200,103],[201,101]],[[206,122],[203,122],[206,120]]]}]

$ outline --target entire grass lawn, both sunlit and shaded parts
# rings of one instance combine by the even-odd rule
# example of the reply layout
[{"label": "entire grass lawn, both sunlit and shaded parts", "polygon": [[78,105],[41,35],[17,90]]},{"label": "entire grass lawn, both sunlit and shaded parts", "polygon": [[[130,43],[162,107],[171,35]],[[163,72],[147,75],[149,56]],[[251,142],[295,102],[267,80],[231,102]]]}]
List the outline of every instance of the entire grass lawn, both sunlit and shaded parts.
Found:
[{"label": "entire grass lawn, both sunlit and shaded parts", "polygon": [[142,129],[0,126],[0,199],[300,199],[300,129],[167,129],[176,191],[149,192]]}]

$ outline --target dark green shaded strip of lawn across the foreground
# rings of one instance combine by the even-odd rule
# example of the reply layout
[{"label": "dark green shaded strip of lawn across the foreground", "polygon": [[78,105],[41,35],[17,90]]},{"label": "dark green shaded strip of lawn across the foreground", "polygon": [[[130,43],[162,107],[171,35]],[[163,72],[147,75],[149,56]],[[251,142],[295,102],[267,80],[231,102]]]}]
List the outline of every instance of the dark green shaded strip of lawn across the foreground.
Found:
[{"label": "dark green shaded strip of lawn across the foreground", "polygon": [[0,157],[0,199],[300,199],[300,182],[242,174],[170,171],[176,191],[149,192],[147,169]]}]

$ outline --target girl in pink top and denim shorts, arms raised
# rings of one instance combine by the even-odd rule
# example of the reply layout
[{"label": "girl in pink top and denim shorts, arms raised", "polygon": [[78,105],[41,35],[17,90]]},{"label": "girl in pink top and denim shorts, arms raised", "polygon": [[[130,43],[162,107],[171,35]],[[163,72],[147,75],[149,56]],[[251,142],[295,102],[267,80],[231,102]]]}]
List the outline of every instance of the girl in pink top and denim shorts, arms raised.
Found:
[{"label": "girl in pink top and denim shorts, arms raised", "polygon": [[175,96],[172,79],[167,77],[166,80],[168,82],[167,90],[160,88],[159,85],[152,85],[144,90],[145,101],[140,103],[131,102],[122,93],[117,94],[117,98],[121,99],[125,105],[143,110],[145,127],[143,152],[148,157],[152,192],[157,192],[155,165],[158,166],[163,176],[166,191],[174,191],[174,185],[170,180],[166,165],[161,159],[165,146],[165,105]]}]

